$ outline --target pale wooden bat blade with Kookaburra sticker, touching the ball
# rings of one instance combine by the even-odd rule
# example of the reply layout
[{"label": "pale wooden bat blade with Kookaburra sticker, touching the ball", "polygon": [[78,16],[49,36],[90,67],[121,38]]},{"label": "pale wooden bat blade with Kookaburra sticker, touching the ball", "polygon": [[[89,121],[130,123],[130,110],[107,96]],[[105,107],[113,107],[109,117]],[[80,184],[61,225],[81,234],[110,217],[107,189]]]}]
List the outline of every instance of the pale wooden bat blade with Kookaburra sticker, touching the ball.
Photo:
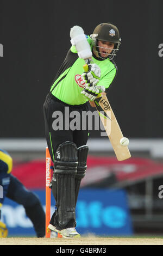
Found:
[{"label": "pale wooden bat blade with Kookaburra sticker, touching the ball", "polygon": [[[123,161],[129,159],[131,157],[130,151],[127,146],[124,147],[120,144],[120,139],[123,138],[123,134],[107,97],[102,96],[101,98],[96,99],[95,105],[112,148],[115,151],[117,160]],[[105,113],[105,115],[101,114],[101,112]]]}]

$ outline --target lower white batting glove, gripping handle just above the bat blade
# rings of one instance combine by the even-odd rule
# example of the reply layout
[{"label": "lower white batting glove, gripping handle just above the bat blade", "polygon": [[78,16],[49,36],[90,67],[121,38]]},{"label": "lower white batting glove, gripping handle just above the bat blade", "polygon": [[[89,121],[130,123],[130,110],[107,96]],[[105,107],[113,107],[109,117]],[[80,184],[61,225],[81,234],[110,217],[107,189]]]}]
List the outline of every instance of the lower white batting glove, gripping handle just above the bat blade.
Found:
[{"label": "lower white batting glove, gripping handle just above the bat blade", "polygon": [[99,93],[105,92],[104,86],[86,86],[81,94],[83,94],[87,100],[93,101],[96,99]]}]

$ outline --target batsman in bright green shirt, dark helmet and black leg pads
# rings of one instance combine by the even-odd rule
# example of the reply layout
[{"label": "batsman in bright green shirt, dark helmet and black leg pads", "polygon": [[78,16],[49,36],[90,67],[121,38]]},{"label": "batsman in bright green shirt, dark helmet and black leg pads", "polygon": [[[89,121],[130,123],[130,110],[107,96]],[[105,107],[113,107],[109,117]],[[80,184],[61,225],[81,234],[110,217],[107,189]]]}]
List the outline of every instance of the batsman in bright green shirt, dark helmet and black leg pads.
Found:
[{"label": "batsman in bright green shirt, dark helmet and black leg pads", "polygon": [[[54,163],[52,192],[56,210],[48,228],[63,237],[80,237],[76,230],[76,204],[80,182],[85,176],[89,148],[89,130],[82,130],[82,113],[89,110],[99,93],[107,89],[117,74],[112,60],[121,44],[120,33],[115,25],[101,23],[89,35],[85,35],[92,53],[89,71],[84,72],[85,61],[72,44],[58,70],[43,104],[45,134],[49,152]],[[80,42],[80,36],[77,37]],[[82,54],[82,53],[81,53]],[[79,114],[80,129],[72,129],[66,123],[68,108],[71,124],[74,111]],[[56,128],[57,113],[62,113],[62,125]]]}]

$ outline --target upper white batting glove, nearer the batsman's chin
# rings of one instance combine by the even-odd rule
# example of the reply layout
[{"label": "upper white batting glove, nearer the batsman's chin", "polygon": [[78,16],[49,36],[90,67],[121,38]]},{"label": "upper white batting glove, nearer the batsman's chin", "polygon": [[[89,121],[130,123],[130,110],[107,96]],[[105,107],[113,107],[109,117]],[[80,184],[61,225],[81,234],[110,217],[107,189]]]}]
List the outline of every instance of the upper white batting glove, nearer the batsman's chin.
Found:
[{"label": "upper white batting glove, nearer the batsman's chin", "polygon": [[89,65],[89,71],[82,74],[86,86],[95,86],[101,77],[101,69],[95,63]]}]

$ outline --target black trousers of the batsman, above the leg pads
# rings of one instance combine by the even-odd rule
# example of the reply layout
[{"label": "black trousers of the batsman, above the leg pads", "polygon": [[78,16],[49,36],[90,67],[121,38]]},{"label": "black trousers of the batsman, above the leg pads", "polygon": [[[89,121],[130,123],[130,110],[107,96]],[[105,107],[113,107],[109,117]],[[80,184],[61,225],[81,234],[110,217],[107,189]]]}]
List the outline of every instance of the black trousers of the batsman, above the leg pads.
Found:
[{"label": "black trousers of the batsman, above the leg pads", "polygon": [[[45,120],[46,141],[53,162],[55,151],[61,143],[71,141],[77,145],[77,148],[86,145],[89,131],[87,122],[85,123],[82,119],[82,113],[87,111],[89,111],[87,103],[72,106],[60,101],[50,93],[47,95],[43,104],[43,117]],[[80,130],[73,130],[75,126],[74,115],[76,113],[78,113],[78,118],[76,118],[77,124],[75,125],[78,126],[77,129],[80,127]],[[57,129],[57,126],[59,129]]]}]

